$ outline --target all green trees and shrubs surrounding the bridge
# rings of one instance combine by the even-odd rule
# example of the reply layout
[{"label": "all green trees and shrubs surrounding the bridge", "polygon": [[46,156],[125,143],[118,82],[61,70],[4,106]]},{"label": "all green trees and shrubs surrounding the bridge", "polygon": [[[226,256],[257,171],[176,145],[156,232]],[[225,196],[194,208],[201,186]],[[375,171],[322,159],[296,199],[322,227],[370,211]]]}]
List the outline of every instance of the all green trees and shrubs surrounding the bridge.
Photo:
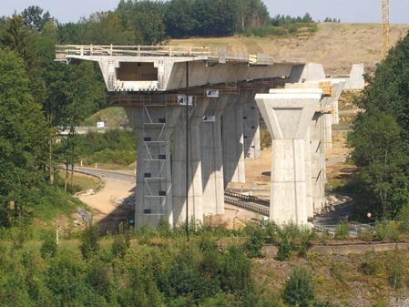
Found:
[{"label": "all green trees and shrubs surrounding the bridge", "polygon": [[[215,5],[216,4],[216,5]],[[209,9],[211,8],[211,9]],[[178,12],[178,15],[172,13]],[[180,15],[183,18],[180,18]],[[186,21],[186,22],[181,22]],[[317,298],[312,272],[295,267],[280,292],[269,292],[254,274],[265,242],[279,246],[278,261],[299,257],[316,233],[246,226],[242,232],[192,227],[192,242],[179,228],[100,238],[97,225],[70,233],[56,245],[50,227],[33,228],[40,210],[51,214],[80,206],[56,184],[57,166],[69,166],[87,150],[116,151],[131,134],[112,131],[105,139],[77,136],[75,128],[107,107],[99,68],[90,62],[54,61],[58,44],[158,45],[189,36],[291,35],[312,25],[310,15],[271,18],[258,0],[120,1],[114,12],[96,12],[77,23],[59,24],[37,6],[0,19],[0,300],[4,306],[331,306]],[[259,31],[265,27],[266,31]],[[269,29],[274,29],[269,30]],[[354,103],[359,113],[348,136],[357,167],[345,189],[356,195],[358,212],[373,212],[372,240],[401,240],[409,220],[409,36],[379,64]],[[56,143],[56,131],[68,136]],[[129,147],[126,150],[135,150]],[[106,153],[107,154],[107,153]],[[128,163],[128,162],[127,162]],[[41,213],[43,214],[43,213]],[[50,216],[50,220],[54,216]],[[387,221],[402,223],[391,226]],[[49,221],[49,220],[48,220]],[[394,224],[395,225],[395,224]],[[343,225],[341,225],[343,226]],[[340,226],[340,227],[341,227]],[[340,233],[343,230],[340,228]],[[215,237],[246,237],[220,249]],[[267,239],[266,239],[267,238]],[[344,239],[344,238],[343,238]],[[409,285],[400,253],[359,264],[362,279],[382,275],[384,289]],[[398,255],[398,256],[396,256]],[[315,256],[318,257],[318,256]],[[392,260],[392,261],[391,261]],[[389,265],[393,264],[393,265]],[[332,275],[347,279],[337,264]],[[338,269],[337,269],[338,268]],[[260,277],[260,276],[259,276]],[[266,282],[268,280],[267,277]],[[318,281],[323,279],[319,276]],[[324,287],[325,284],[322,283]],[[388,288],[391,287],[391,288]]]}]

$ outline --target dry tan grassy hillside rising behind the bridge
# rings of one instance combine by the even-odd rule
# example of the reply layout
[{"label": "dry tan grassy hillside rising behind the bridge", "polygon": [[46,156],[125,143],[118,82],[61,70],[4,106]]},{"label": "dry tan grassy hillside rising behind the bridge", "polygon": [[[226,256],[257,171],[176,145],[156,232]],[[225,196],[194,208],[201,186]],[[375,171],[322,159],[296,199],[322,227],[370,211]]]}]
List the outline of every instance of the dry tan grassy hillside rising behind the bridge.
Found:
[{"label": "dry tan grassy hillside rising behind the bridge", "polygon": [[[231,52],[276,57],[295,57],[306,62],[322,63],[325,73],[349,75],[355,63],[363,63],[365,72],[372,73],[381,59],[380,24],[320,23],[318,32],[297,36],[221,37],[173,39],[171,46],[225,46]],[[390,26],[390,45],[407,35],[409,25]]]}]

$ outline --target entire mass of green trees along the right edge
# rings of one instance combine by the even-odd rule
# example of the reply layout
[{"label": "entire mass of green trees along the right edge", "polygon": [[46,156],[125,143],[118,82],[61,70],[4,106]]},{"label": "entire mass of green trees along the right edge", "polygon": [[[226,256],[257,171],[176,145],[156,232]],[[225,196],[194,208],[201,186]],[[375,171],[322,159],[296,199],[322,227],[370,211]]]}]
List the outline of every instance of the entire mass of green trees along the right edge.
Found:
[{"label": "entire mass of green trees along the right edge", "polygon": [[365,210],[394,218],[409,199],[409,35],[366,78],[369,84],[355,101],[365,112],[355,120],[348,142],[364,199],[372,203]]}]

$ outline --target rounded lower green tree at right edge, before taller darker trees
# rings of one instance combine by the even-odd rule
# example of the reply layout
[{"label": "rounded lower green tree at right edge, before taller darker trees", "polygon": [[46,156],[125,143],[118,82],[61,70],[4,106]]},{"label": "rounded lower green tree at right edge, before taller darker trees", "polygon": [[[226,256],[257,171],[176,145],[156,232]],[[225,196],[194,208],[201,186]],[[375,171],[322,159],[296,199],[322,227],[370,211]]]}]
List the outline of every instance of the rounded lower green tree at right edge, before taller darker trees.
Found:
[{"label": "rounded lower green tree at right edge, before taller darker trees", "polygon": [[357,166],[363,193],[380,217],[393,218],[408,200],[405,171],[408,156],[401,128],[390,114],[360,114],[353,123],[348,144]]}]

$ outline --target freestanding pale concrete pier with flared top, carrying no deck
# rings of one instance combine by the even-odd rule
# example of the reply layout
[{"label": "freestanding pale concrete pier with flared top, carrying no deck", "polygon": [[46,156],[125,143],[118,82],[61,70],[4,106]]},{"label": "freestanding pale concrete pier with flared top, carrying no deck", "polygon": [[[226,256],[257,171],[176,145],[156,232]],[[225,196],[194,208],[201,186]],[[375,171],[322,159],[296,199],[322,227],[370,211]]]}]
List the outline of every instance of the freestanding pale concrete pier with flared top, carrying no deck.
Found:
[{"label": "freestanding pale concrete pier with flared top, carrying no deck", "polygon": [[321,97],[320,88],[271,89],[256,95],[273,138],[270,220],[279,225],[308,221],[305,134]]}]

